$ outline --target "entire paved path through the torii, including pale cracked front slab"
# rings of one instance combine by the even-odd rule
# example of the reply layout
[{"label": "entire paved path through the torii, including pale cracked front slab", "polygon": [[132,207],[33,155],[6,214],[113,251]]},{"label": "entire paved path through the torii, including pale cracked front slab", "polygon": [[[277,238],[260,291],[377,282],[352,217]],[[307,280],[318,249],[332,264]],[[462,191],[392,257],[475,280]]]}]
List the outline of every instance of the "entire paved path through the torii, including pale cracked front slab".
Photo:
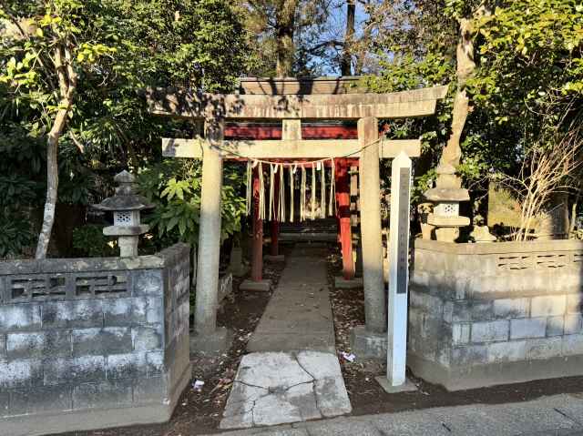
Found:
[{"label": "entire paved path through the torii, including pale cracked front slab", "polygon": [[220,422],[240,429],[352,411],[335,355],[326,250],[298,245],[251,336]]}]

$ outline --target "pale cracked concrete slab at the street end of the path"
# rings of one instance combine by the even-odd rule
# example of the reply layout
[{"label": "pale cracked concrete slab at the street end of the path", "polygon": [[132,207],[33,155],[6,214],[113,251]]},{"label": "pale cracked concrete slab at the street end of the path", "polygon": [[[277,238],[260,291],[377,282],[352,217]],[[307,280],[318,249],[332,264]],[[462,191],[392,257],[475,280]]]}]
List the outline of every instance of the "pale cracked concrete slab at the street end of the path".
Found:
[{"label": "pale cracked concrete slab at the street end of the path", "polygon": [[334,354],[310,350],[251,353],[240,362],[220,428],[318,420],[350,411]]}]

